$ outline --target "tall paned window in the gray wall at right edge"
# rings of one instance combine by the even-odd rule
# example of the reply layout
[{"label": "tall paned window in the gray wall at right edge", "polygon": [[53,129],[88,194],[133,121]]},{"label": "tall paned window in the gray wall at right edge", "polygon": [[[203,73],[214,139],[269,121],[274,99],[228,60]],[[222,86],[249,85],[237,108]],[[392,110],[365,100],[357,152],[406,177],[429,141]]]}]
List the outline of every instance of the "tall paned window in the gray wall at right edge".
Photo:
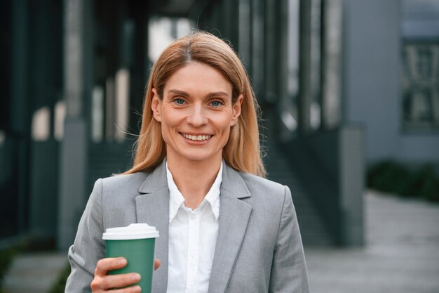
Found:
[{"label": "tall paned window in the gray wall at right edge", "polygon": [[439,130],[439,2],[401,2],[401,117],[405,131]]}]

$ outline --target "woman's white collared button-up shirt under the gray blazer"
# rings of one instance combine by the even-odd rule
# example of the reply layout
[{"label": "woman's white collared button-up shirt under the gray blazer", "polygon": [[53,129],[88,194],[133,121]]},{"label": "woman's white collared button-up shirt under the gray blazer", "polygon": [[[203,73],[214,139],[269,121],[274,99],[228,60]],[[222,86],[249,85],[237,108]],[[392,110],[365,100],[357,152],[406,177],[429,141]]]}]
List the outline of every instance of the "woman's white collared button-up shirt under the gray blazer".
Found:
[{"label": "woman's white collared button-up shirt under the gray blazer", "polygon": [[207,293],[218,235],[219,186],[217,178],[195,209],[184,206],[184,197],[166,164],[169,186],[169,251],[167,293]]}]

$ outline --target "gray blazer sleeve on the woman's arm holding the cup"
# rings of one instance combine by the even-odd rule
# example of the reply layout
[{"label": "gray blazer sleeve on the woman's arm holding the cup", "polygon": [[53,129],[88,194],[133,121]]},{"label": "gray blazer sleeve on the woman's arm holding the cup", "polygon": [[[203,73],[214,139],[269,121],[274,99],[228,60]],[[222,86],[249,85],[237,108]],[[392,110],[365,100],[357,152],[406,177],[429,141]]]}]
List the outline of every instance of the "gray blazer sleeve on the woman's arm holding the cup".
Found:
[{"label": "gray blazer sleeve on the woman's arm holding the cup", "polygon": [[91,292],[90,283],[96,263],[105,254],[102,230],[102,179],[99,179],[79,221],[74,245],[69,248],[72,272],[67,279],[65,293]]}]

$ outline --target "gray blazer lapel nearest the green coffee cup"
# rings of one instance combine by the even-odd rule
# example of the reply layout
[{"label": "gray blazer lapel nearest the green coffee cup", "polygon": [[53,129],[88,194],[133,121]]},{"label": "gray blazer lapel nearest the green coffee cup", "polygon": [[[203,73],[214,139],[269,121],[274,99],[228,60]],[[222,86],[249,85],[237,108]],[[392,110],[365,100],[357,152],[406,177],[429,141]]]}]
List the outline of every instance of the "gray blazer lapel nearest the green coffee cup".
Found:
[{"label": "gray blazer lapel nearest the green coffee cup", "polygon": [[169,189],[166,178],[166,161],[156,167],[140,185],[136,197],[136,214],[138,223],[155,226],[160,236],[156,238],[156,259],[162,266],[154,271],[152,292],[166,292],[168,285],[168,228],[169,228]]}]

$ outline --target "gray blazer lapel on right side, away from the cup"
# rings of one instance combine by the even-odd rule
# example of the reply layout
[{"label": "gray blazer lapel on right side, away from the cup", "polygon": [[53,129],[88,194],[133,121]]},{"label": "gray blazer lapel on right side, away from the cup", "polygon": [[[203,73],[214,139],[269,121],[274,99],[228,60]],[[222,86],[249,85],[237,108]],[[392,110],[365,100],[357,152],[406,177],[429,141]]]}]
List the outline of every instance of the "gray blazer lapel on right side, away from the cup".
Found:
[{"label": "gray blazer lapel on right side, away from the cup", "polygon": [[208,293],[223,293],[247,230],[252,207],[241,199],[250,191],[237,171],[224,163],[220,193],[219,227]]}]

